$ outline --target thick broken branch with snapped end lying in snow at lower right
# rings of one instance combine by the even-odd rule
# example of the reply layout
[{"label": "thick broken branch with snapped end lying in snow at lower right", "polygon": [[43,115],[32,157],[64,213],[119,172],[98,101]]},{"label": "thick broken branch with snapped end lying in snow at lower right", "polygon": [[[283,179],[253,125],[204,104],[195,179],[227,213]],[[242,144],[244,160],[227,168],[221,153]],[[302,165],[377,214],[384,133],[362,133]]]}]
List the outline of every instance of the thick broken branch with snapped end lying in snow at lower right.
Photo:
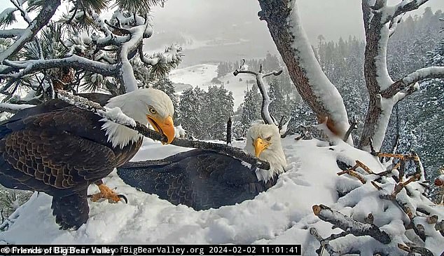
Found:
[{"label": "thick broken branch with snapped end lying in snow at lower right", "polygon": [[342,213],[331,210],[328,206],[315,205],[312,207],[314,215],[325,222],[330,222],[336,227],[353,234],[354,236],[371,236],[381,243],[388,244],[391,242],[389,234],[381,231],[374,224],[366,224],[353,220],[352,217],[343,215]]}]

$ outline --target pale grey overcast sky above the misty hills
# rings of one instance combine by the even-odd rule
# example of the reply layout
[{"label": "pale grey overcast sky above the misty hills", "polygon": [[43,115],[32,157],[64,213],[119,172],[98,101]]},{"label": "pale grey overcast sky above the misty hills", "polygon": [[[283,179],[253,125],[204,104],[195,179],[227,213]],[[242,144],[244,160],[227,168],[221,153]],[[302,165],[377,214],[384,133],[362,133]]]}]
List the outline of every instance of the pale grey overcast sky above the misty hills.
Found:
[{"label": "pale grey overcast sky above the misty hills", "polygon": [[[399,0],[389,0],[389,4],[397,2]],[[0,1],[0,10],[10,6],[10,1]],[[422,13],[426,6],[431,6],[433,11],[444,10],[444,1],[429,0],[416,13]],[[319,34],[327,40],[347,38],[350,34],[363,36],[359,0],[298,0],[298,8],[312,43]],[[256,29],[268,32],[266,23],[258,20],[259,10],[256,0],[169,0],[164,8],[154,8],[152,15],[155,29],[160,30],[177,28],[183,32],[189,29],[192,34],[205,34],[221,28],[235,29],[240,22],[251,22]]]}]

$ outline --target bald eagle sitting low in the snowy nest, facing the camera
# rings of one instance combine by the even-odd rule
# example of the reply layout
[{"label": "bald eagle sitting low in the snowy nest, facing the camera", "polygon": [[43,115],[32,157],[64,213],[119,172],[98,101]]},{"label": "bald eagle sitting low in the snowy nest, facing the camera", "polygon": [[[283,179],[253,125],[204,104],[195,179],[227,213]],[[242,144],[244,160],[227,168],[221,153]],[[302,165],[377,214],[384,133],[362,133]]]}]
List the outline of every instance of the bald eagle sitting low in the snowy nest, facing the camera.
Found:
[{"label": "bald eagle sitting low in the snowy nest, facing the camera", "polygon": [[254,198],[276,184],[284,172],[286,159],[277,126],[251,126],[244,150],[268,161],[270,170],[251,170],[226,154],[193,149],[162,160],[126,163],[118,168],[118,175],[126,184],[175,205],[219,208]]}]

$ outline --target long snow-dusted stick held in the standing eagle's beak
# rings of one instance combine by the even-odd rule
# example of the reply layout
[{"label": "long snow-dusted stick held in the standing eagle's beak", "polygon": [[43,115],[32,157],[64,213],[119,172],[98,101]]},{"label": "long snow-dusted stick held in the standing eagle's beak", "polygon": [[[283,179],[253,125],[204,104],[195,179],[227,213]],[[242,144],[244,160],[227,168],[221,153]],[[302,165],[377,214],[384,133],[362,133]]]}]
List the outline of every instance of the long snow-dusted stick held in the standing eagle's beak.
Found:
[{"label": "long snow-dusted stick held in the standing eagle's beak", "polygon": [[[115,123],[119,123],[132,130],[137,130],[137,132],[139,132],[141,135],[144,135],[145,137],[149,137],[153,140],[160,140],[162,142],[167,142],[167,137],[165,137],[165,135],[162,135],[156,132],[155,130],[150,130],[142,123],[134,121],[130,117],[123,114],[118,107],[113,109],[102,107],[96,102],[87,100],[84,97],[71,95],[64,90],[58,90],[57,95],[60,98],[60,100],[64,100],[69,104],[75,105],[76,107],[79,107],[81,109],[94,112],[99,116],[109,119],[110,121],[113,121]],[[209,150],[218,151],[223,154],[228,154],[230,156],[233,156],[236,159],[245,161],[246,163],[249,163],[254,167],[261,168],[263,170],[270,170],[270,163],[268,163],[267,161],[262,161],[261,159],[258,159],[254,156],[251,156],[250,154],[247,154],[246,152],[242,151],[242,149],[229,147],[225,144],[201,142],[197,140],[181,140],[179,138],[174,138],[171,144],[174,144],[179,147],[193,147],[199,149],[209,149]]]}]

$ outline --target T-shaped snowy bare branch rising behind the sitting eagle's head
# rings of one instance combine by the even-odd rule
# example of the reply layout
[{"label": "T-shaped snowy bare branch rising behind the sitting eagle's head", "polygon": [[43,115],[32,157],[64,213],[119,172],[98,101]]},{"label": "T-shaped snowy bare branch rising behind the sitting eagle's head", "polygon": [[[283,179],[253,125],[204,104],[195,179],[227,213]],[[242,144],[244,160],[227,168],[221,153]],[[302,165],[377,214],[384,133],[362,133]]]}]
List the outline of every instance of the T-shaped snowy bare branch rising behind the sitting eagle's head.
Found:
[{"label": "T-shaped snowy bare branch rising behind the sitting eagle's head", "polygon": [[276,120],[271,116],[270,111],[268,110],[268,108],[270,107],[270,96],[268,96],[267,93],[267,88],[265,88],[265,83],[263,82],[263,78],[266,76],[279,76],[279,74],[282,73],[282,70],[279,71],[272,71],[272,72],[268,72],[267,74],[263,74],[262,73],[262,65],[261,68],[259,70],[259,72],[254,72],[251,70],[244,70],[244,69],[236,69],[235,72],[233,72],[233,74],[235,76],[237,76],[237,74],[252,74],[256,77],[256,83],[258,84],[258,88],[261,91],[261,95],[262,95],[262,110],[261,110],[261,116],[263,121],[265,121],[265,123],[267,124],[275,124]]}]

